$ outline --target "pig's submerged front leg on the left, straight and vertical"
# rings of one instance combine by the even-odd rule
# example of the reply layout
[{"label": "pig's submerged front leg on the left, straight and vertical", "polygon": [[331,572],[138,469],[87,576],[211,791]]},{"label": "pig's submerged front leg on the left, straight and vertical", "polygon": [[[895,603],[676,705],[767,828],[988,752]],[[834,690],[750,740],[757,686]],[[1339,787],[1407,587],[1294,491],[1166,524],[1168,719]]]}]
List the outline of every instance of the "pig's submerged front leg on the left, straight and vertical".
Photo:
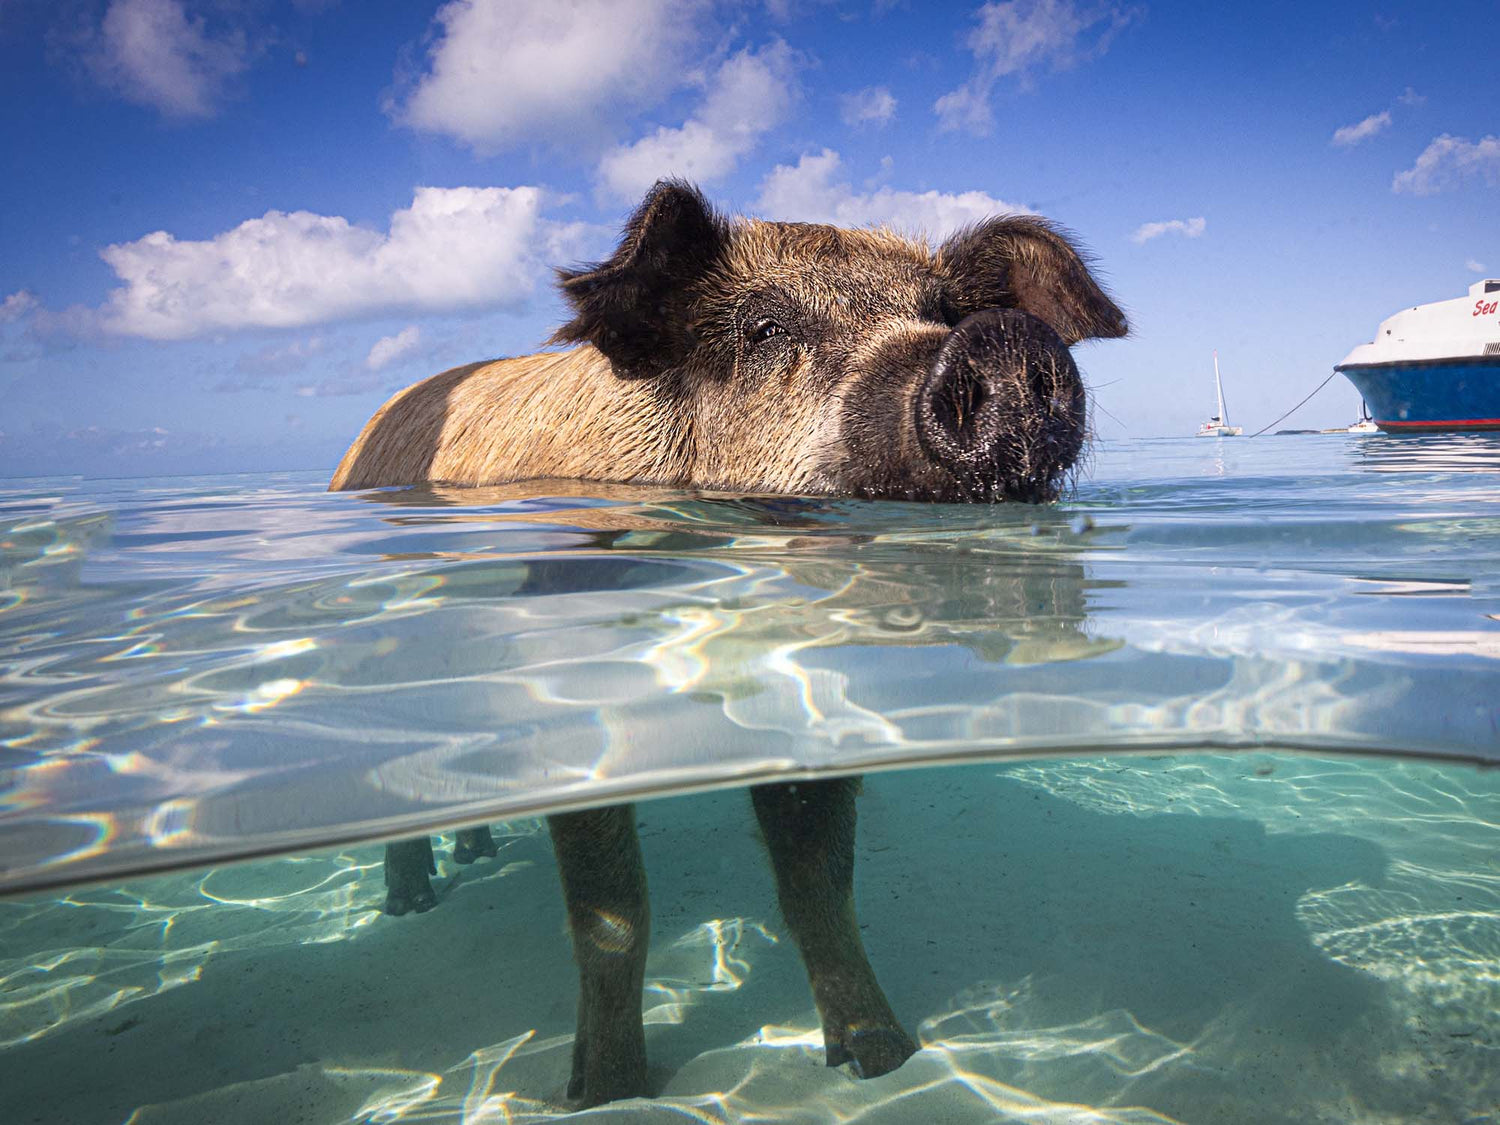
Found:
[{"label": "pig's submerged front leg on the left, straight and vertical", "polygon": [[640,1024],[651,916],[633,806],[548,818],[562,876],[573,958],[578,1034],[567,1096],[600,1106],[646,1092]]}]

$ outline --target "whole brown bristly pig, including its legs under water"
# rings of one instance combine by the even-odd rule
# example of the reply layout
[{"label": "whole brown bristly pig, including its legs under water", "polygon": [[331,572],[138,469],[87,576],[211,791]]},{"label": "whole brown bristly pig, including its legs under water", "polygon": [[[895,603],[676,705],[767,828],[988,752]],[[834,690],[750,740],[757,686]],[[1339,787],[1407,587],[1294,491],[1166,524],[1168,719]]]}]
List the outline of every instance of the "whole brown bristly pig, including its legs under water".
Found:
[{"label": "whole brown bristly pig, including its legs under water", "polygon": [[[936,250],[886,230],[729,219],[658,183],[615,252],[561,270],[572,318],[550,344],[390,399],[330,489],[585,478],[936,502],[1046,501],[1084,446],[1070,346],[1126,332],[1084,256],[1030,214]],[[900,1066],[902,1028],[860,939],[856,778],[752,788],[777,900],[830,1066]],[[548,818],[579,970],[567,1098],[648,1094],[650,938],[634,810]],[[494,855],[484,828],[454,858]],[[387,912],[432,906],[426,838],[387,849]]]}]

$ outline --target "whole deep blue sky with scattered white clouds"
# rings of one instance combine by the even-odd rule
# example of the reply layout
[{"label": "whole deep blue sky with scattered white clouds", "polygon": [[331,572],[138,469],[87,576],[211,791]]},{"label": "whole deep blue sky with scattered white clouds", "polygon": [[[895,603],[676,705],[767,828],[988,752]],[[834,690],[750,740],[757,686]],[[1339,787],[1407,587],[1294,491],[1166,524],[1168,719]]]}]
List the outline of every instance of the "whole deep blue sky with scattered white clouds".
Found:
[{"label": "whole deep blue sky with scattered white clouds", "polygon": [[[652,178],[940,237],[1030,208],[1130,312],[1101,442],[1272,422],[1500,276],[1500,3],[0,0],[0,476],[332,470],[534,351]],[[1288,426],[1353,420],[1335,380]]]}]

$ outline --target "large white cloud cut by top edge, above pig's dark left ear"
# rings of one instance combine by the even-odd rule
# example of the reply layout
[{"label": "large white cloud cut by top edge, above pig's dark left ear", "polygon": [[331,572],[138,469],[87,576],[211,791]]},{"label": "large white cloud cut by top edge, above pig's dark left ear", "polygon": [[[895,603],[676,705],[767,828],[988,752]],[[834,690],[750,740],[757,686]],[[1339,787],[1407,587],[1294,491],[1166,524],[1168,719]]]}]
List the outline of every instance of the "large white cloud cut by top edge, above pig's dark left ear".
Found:
[{"label": "large white cloud cut by top edge, above pig's dark left ear", "polygon": [[681,84],[704,0],[452,0],[426,70],[387,111],[483,153],[598,144]]}]

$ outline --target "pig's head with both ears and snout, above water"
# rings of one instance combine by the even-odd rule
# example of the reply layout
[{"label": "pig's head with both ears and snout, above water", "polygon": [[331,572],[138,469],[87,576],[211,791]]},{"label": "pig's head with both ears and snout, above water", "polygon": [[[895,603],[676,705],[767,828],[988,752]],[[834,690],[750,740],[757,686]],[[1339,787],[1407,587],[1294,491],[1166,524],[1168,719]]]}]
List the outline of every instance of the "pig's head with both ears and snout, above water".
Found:
[{"label": "pig's head with both ears and snout, above water", "polygon": [[663,182],[608,261],[561,273],[621,380],[650,381],[700,488],[1042,500],[1083,448],[1070,345],[1125,316],[1046,220],[936,252],[888,231],[728,220]]}]

